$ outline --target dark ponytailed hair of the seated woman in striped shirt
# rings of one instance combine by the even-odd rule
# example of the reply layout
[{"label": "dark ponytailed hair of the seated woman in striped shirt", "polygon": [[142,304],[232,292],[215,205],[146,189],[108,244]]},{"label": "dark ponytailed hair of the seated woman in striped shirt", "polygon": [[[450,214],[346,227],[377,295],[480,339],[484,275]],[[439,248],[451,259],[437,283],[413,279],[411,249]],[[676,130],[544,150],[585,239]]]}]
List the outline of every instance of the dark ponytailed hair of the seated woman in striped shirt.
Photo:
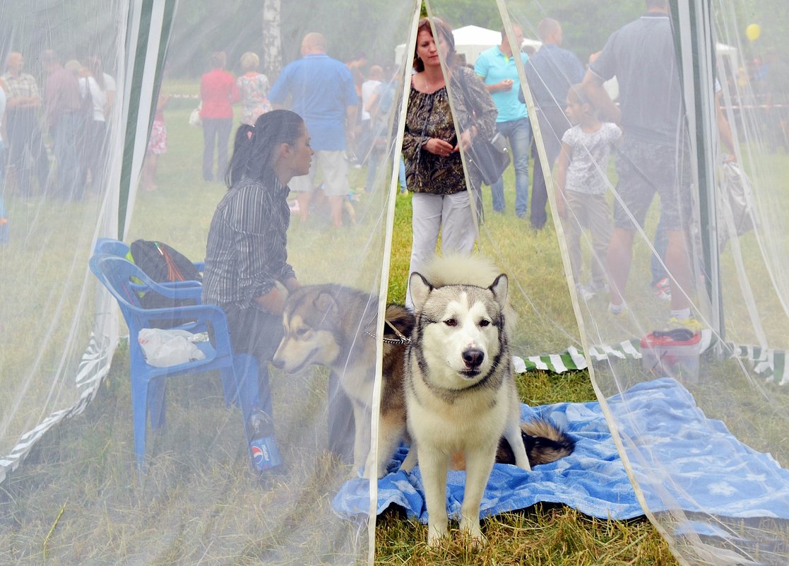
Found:
[{"label": "dark ponytailed hair of the seated woman in striped shirt", "polygon": [[255,126],[238,126],[233,157],[225,174],[227,188],[245,177],[262,181],[271,174],[275,150],[280,144],[294,145],[304,133],[304,127],[301,116],[289,110],[272,110],[261,114]]}]

